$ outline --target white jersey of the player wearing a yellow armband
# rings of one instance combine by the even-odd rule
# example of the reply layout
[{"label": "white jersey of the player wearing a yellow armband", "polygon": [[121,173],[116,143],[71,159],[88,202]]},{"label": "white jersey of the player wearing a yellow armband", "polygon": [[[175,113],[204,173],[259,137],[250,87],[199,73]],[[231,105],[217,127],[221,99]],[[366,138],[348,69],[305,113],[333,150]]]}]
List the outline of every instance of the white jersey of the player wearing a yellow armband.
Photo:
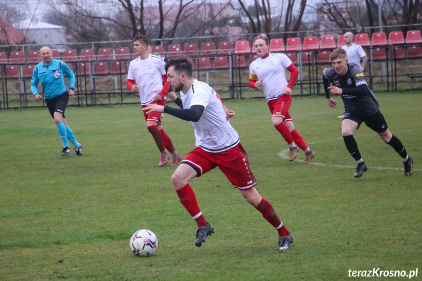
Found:
[{"label": "white jersey of the player wearing a yellow armband", "polygon": [[262,80],[261,86],[264,96],[274,100],[283,94],[283,90],[289,84],[286,79],[286,68],[291,65],[291,60],[283,53],[269,53],[268,57],[257,58],[249,66],[249,78]]}]

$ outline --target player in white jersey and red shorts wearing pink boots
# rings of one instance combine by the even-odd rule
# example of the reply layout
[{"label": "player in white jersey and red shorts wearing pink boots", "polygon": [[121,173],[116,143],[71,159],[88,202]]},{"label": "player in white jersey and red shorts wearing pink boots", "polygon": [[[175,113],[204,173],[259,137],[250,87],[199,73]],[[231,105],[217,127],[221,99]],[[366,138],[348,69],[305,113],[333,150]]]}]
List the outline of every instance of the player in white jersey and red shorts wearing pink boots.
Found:
[{"label": "player in white jersey and red shorts wearing pink boots", "polygon": [[[129,65],[126,85],[131,91],[139,92],[142,108],[155,103],[164,106],[170,85],[166,82],[167,75],[163,59],[148,52],[148,38],[141,34],[133,38],[133,52],[139,57]],[[144,117],[147,121],[147,129],[153,135],[155,144],[160,151],[159,166],[166,165],[170,158],[166,149],[173,155],[171,165],[178,165],[182,157],[174,148],[170,137],[164,132],[160,119],[161,114],[154,112],[146,114],[144,111]]]}]

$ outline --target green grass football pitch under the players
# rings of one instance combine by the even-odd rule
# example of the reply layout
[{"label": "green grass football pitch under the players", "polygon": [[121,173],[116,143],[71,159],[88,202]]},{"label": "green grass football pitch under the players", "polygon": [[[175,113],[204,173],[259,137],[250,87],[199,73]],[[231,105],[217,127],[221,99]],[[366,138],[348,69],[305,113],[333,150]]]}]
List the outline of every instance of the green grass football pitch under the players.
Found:
[{"label": "green grass football pitch under the players", "polygon": [[[215,169],[191,181],[215,234],[194,246],[196,223],[183,208],[140,106],[67,108],[84,156],[60,156],[46,108],[0,111],[0,280],[360,280],[353,270],[411,270],[422,275],[422,95],[380,93],[390,130],[415,160],[403,176],[400,156],[362,126],[355,139],[368,172],[340,130],[340,108],[324,97],[294,98],[297,130],[315,151],[289,162],[263,99],[229,100],[230,119],[249,155],[258,192],[294,236],[274,251],[277,232]],[[339,101],[341,103],[341,101]],[[181,154],[195,146],[192,126],[166,114],[166,132]],[[139,229],[158,238],[150,258],[129,239]],[[379,277],[404,280],[408,277]]]}]

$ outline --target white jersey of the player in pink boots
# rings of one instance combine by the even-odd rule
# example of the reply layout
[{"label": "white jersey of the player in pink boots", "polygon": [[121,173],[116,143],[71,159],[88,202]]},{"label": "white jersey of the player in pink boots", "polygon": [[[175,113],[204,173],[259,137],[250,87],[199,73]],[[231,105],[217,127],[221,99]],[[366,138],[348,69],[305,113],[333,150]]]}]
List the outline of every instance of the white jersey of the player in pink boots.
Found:
[{"label": "white jersey of the player in pink boots", "polygon": [[163,59],[149,55],[145,60],[139,57],[129,65],[128,79],[135,80],[139,87],[141,105],[149,105],[163,89],[163,75],[166,74]]}]

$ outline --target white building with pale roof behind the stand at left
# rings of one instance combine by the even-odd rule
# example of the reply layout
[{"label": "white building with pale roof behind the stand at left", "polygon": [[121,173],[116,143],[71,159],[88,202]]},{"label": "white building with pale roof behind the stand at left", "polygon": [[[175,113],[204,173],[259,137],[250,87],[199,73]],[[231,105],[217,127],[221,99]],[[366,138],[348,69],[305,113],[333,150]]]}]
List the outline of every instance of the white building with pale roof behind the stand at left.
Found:
[{"label": "white building with pale roof behind the stand at left", "polygon": [[66,43],[66,28],[38,19],[25,20],[15,24],[15,27],[31,42],[41,45]]}]

